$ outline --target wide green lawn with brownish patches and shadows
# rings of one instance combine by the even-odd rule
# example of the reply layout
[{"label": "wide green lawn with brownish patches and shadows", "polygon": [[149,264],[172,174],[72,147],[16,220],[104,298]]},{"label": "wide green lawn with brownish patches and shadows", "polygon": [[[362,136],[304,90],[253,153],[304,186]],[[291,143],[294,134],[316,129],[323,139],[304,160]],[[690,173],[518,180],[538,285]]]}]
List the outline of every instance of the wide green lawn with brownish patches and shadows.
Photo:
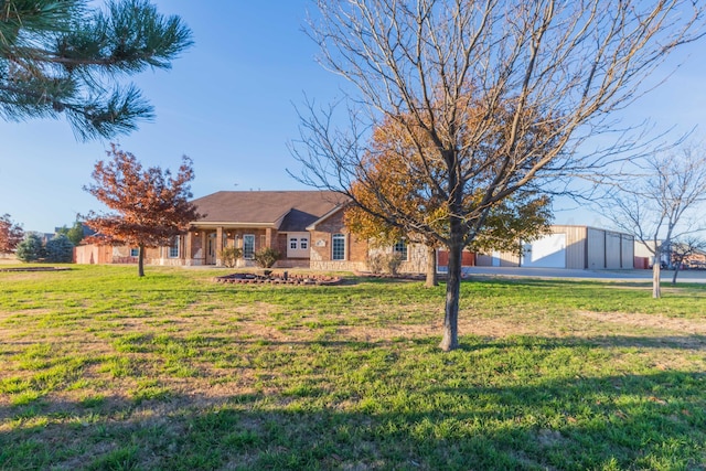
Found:
[{"label": "wide green lawn with brownish patches and shadows", "polygon": [[706,286],[0,272],[0,470],[698,470]]}]

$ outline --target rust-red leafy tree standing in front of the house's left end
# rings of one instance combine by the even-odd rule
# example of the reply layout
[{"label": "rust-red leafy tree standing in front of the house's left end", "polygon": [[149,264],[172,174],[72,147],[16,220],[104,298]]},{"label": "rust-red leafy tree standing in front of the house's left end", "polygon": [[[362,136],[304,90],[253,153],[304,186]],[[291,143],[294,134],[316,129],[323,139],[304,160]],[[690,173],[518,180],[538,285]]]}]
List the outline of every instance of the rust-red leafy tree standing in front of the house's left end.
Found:
[{"label": "rust-red leafy tree standing in front of the house's left end", "polygon": [[95,183],[84,189],[113,212],[90,212],[86,224],[96,231],[89,242],[137,246],[138,274],[145,276],[145,248],[167,245],[185,232],[189,223],[202,217],[189,200],[189,182],[194,179],[192,161],[184,156],[179,173],[159,167],[142,170],[130,152],[111,143],[111,159],[99,161],[93,171]]}]

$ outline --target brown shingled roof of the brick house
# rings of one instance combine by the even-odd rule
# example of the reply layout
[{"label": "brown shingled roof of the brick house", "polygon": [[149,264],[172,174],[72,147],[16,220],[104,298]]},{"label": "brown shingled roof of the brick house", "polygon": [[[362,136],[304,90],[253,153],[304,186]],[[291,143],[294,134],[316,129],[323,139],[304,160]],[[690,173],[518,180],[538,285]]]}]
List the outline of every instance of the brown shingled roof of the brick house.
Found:
[{"label": "brown shingled roof of the brick house", "polygon": [[193,203],[206,214],[196,225],[301,232],[345,201],[330,191],[220,191]]}]

